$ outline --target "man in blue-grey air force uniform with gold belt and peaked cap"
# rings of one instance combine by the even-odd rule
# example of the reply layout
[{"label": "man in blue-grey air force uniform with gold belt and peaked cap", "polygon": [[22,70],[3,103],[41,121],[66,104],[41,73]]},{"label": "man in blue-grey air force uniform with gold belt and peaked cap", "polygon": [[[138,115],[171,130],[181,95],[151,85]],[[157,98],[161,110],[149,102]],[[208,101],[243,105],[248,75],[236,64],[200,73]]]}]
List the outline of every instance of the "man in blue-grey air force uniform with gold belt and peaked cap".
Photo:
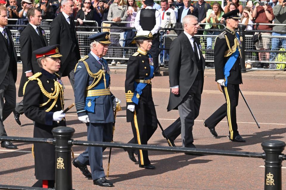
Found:
[{"label": "man in blue-grey air force uniform with gold belt and peaked cap", "polygon": [[[113,106],[120,100],[109,90],[110,75],[105,59],[109,32],[93,34],[90,53],[79,60],[74,69],[74,97],[78,119],[87,124],[87,140],[111,142]],[[87,178],[92,178],[94,185],[111,187],[113,184],[105,178],[102,167],[102,152],[105,148],[88,146],[72,164],[78,167]],[[90,165],[91,173],[86,165]]]}]

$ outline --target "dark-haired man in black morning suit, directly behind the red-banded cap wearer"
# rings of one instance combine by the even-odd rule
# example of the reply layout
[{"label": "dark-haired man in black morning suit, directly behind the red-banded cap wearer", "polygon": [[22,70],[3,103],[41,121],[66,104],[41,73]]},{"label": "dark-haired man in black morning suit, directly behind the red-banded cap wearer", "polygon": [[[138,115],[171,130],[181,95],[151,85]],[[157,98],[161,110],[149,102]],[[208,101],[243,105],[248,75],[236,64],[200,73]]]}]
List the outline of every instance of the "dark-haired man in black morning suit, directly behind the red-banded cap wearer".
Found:
[{"label": "dark-haired man in black morning suit, directly behind the red-banded cap wearer", "polygon": [[[18,90],[18,96],[23,97],[23,87],[28,81],[28,77],[31,77],[37,72],[41,72],[41,68],[38,65],[37,58],[32,52],[46,47],[48,41],[46,39],[45,31],[39,27],[42,20],[41,11],[37,8],[32,7],[27,11],[27,18],[29,24],[23,30],[20,36],[20,55],[22,60],[22,77]],[[15,110],[13,111],[14,118],[18,125],[21,125],[20,115],[24,113],[23,100],[16,104]]]}]

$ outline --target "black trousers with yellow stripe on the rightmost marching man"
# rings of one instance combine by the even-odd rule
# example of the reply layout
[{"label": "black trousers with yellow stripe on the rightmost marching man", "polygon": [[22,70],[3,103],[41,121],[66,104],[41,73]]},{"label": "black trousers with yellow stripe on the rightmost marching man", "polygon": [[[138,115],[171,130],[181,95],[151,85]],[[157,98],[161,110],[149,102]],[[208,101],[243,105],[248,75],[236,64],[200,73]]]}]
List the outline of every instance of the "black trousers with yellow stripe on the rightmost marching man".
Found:
[{"label": "black trousers with yellow stripe on the rightmost marching man", "polygon": [[233,140],[237,135],[237,123],[236,123],[236,107],[238,105],[239,85],[227,84],[222,86],[226,103],[218,108],[209,118],[206,119],[205,125],[209,128],[215,127],[225,116],[229,125],[229,138]]}]

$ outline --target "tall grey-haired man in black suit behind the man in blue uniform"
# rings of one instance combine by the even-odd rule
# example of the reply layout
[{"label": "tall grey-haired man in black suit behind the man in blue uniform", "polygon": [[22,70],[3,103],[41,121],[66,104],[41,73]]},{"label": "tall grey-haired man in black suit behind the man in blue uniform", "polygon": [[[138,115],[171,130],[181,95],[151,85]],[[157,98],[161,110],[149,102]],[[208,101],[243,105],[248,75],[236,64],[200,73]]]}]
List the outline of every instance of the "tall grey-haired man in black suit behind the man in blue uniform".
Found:
[{"label": "tall grey-haired man in black suit behind the man in blue uniform", "polygon": [[58,74],[60,77],[68,76],[74,90],[74,67],[80,59],[77,33],[74,19],[71,17],[74,2],[63,0],[61,6],[63,11],[51,23],[50,45],[60,44],[60,53],[63,57]]}]

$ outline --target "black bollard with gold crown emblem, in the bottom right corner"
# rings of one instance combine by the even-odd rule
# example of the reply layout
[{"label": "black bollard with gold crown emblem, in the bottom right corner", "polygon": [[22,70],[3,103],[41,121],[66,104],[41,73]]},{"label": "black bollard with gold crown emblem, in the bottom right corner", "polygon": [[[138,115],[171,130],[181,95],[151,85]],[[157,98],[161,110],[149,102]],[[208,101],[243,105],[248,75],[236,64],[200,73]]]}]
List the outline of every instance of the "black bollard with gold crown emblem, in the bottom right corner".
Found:
[{"label": "black bollard with gold crown emblem, in the bottom right corner", "polygon": [[268,140],[261,146],[265,151],[264,190],[282,190],[282,151],[285,143],[279,140]]}]

